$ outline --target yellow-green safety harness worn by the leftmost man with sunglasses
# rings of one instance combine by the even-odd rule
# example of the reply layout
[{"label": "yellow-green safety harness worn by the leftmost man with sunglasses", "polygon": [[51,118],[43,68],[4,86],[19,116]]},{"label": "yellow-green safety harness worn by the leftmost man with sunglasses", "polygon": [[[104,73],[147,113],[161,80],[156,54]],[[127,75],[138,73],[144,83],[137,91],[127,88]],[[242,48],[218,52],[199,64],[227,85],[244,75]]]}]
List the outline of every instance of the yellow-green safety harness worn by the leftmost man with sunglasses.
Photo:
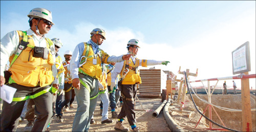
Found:
[{"label": "yellow-green safety harness worn by the leftmost man with sunglasses", "polygon": [[[14,63],[14,61],[18,58],[18,56],[20,55],[20,53],[22,53],[22,51],[24,49],[26,49],[27,47],[30,47],[32,49],[34,48],[34,46],[30,45],[29,42],[28,42],[27,32],[26,31],[22,31],[22,32],[23,32],[23,34],[22,34],[23,39],[20,40],[20,43],[18,45],[18,49],[15,52],[15,55],[14,55],[14,57],[12,59],[12,62],[10,63],[10,68],[11,68],[11,65]],[[53,47],[52,47],[53,43],[51,42],[51,40],[49,38],[47,38],[46,40],[48,42],[48,45],[49,45],[51,51],[54,50]],[[10,77],[9,80],[8,80],[8,83],[10,83],[10,84],[11,83],[15,83],[15,81]],[[38,93],[36,93],[34,95],[28,95],[28,96],[25,96],[25,97],[13,98],[12,101],[19,102],[19,101],[25,101],[27,99],[34,99],[34,98],[36,98],[36,97],[38,97],[38,96],[40,96],[42,94],[45,94],[47,92],[50,92],[50,91],[52,93],[57,93],[58,90],[55,89],[55,87],[51,86],[48,89],[42,90],[42,91],[40,91],[40,92],[38,92]]]}]

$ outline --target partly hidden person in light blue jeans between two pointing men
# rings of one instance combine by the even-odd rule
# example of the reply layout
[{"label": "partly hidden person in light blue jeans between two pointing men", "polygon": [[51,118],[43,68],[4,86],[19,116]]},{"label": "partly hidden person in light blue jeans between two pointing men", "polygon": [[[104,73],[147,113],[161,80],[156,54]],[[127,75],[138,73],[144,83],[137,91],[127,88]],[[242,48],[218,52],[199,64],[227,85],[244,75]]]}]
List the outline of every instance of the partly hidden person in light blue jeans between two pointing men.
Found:
[{"label": "partly hidden person in light blue jeans between two pointing men", "polygon": [[[113,62],[112,62],[113,63]],[[101,124],[105,123],[112,123],[113,121],[109,119],[108,115],[108,108],[109,108],[109,97],[108,97],[108,86],[106,84],[107,80],[107,68],[105,64],[103,64],[103,71],[102,71],[102,78],[99,79],[99,98],[101,99],[101,107],[102,113],[100,114],[101,117]],[[90,124],[94,124],[95,121],[92,117]]]}]

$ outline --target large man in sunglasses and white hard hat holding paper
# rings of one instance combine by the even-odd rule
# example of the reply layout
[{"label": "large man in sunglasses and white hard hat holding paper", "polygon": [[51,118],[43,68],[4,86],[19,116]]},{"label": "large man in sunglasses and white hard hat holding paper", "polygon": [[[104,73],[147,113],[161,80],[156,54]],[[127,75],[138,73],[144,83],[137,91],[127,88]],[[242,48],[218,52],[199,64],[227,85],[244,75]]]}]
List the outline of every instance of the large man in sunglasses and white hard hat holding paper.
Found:
[{"label": "large man in sunglasses and white hard hat holding paper", "polygon": [[[10,104],[3,102],[1,131],[16,131],[18,118],[29,98],[35,103],[37,116],[31,131],[45,131],[53,114],[52,93],[58,89],[57,70],[53,42],[45,36],[54,25],[52,13],[34,8],[28,17],[30,29],[9,32],[1,39],[1,86],[8,82],[8,86],[17,89]],[[3,71],[8,59],[10,77],[5,80]]]}]

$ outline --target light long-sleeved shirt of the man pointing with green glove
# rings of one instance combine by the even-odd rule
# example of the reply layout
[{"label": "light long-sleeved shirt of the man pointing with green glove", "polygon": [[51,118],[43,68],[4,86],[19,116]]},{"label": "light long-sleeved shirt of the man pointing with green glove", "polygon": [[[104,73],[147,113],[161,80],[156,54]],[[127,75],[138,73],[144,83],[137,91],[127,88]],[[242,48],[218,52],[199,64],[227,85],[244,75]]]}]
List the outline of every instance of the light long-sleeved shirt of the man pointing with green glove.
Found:
[{"label": "light long-sleeved shirt of the man pointing with green glove", "polygon": [[[130,54],[129,52],[127,54]],[[135,63],[135,59],[136,59],[136,56],[131,56],[133,62]],[[124,61],[124,60],[123,60]],[[116,81],[116,77],[118,74],[120,74],[120,72],[122,71],[123,69],[123,61],[122,62],[118,62],[116,63],[115,65],[115,69],[112,71],[111,73],[111,83],[112,82],[115,82]],[[140,63],[139,63],[139,66],[141,66],[142,64],[142,59],[140,59]],[[162,64],[162,61],[157,61],[157,60],[147,60],[147,63],[146,63],[148,66],[150,65],[156,65],[156,64]]]}]

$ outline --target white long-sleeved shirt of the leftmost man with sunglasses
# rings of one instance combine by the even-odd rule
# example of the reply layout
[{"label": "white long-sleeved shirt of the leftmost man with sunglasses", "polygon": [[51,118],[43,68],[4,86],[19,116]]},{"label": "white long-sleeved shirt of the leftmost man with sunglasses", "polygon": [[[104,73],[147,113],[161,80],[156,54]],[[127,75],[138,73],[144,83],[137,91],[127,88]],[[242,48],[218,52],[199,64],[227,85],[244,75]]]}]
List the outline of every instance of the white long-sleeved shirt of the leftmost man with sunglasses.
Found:
[{"label": "white long-sleeved shirt of the leftmost man with sunglasses", "polygon": [[[32,38],[36,47],[44,47],[44,48],[47,47],[45,35],[39,38],[31,29],[27,30],[27,35],[32,35]],[[19,44],[19,35],[17,31],[9,32],[1,39],[1,65],[0,65],[1,76],[4,76],[5,66],[9,60],[9,57],[15,54],[16,50],[18,49],[18,44]],[[53,48],[54,48],[54,45],[53,45]],[[53,61],[55,62],[55,55],[53,55]],[[57,84],[58,83],[58,80],[56,78],[57,69],[55,64],[52,65],[52,73],[54,77],[53,84]]]}]

